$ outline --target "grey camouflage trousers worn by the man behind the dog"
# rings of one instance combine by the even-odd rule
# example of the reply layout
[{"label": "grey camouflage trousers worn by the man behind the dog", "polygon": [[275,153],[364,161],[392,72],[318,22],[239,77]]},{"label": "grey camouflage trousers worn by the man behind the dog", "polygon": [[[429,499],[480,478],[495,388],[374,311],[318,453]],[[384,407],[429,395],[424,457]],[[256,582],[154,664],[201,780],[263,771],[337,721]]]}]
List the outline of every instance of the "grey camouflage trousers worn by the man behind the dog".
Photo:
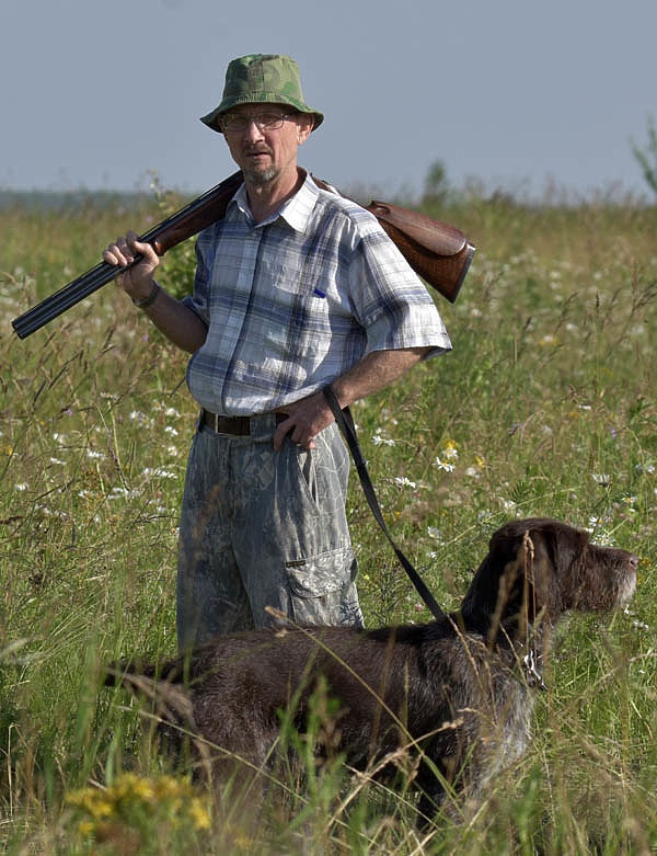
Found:
[{"label": "grey camouflage trousers worn by the man behind the dog", "polygon": [[181,514],[177,636],[181,650],[218,634],[279,623],[362,627],[345,502],[349,456],[335,424],[308,450],[274,452],[272,414],[251,436],[199,426]]}]

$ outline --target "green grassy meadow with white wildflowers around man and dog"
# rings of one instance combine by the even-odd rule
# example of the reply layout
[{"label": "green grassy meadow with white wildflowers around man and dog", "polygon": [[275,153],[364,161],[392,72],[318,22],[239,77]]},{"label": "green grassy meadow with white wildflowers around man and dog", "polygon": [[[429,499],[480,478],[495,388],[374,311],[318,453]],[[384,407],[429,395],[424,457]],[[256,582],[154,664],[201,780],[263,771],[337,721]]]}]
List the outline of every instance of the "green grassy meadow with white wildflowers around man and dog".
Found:
[{"label": "green grassy meadow with white wildflowers around man and dog", "polygon": [[[452,608],[498,525],[558,517],[639,556],[633,603],[568,621],[530,751],[461,825],[419,835],[408,796],[338,766],[309,765],[298,792],[280,780],[251,824],[209,808],[165,777],[139,709],[99,687],[108,660],[175,651],[185,357],[114,285],[28,340],[10,327],[161,212],[0,212],[4,852],[657,848],[657,210],[474,193],[426,209],[479,249],[457,304],[437,298],[453,353],[354,409],[396,540]],[[180,289],[189,249],[174,252],[161,278]],[[355,479],[349,515],[368,625],[428,620]]]}]

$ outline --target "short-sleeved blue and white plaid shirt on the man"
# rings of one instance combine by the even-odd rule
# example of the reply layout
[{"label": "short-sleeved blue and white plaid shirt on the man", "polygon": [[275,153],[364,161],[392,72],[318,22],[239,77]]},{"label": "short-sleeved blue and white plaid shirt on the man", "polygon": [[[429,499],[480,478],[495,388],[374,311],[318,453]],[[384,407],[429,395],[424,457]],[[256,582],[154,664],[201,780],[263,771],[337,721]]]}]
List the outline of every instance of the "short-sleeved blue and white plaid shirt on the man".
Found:
[{"label": "short-sleeved blue and white plaid shirt on the man", "polygon": [[376,217],[310,176],[255,224],[245,189],[196,242],[208,324],[187,385],[221,415],[265,413],[318,391],[372,351],[451,344],[426,288]]}]

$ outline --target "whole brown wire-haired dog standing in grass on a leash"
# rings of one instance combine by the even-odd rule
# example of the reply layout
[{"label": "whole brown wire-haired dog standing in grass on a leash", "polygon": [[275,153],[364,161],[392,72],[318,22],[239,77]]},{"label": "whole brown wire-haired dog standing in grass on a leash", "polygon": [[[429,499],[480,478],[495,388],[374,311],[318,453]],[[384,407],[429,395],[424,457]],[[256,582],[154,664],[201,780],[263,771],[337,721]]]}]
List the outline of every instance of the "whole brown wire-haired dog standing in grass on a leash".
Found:
[{"label": "whole brown wire-haired dog standing in grass on a leash", "polygon": [[222,779],[235,757],[252,771],[266,765],[281,710],[303,731],[322,677],[339,714],[334,745],[318,753],[381,769],[405,747],[417,761],[422,814],[433,817],[449,795],[456,817],[457,797],[481,797],[523,751],[551,628],[567,609],[626,603],[637,564],[564,523],[517,520],[493,535],[460,612],[441,621],[219,637],[159,666],[116,664],[107,684],[159,699],[170,742],[181,729],[195,735],[199,760]]}]

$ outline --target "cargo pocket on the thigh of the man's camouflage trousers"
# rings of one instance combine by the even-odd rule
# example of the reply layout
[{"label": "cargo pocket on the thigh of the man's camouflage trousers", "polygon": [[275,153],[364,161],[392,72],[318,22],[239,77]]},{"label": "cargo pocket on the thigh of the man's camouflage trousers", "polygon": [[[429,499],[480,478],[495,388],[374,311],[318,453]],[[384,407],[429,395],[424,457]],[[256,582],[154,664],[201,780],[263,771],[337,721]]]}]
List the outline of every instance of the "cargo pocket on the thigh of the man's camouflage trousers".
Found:
[{"label": "cargo pocket on the thigh of the man's camouflage trousers", "polygon": [[328,550],[285,563],[293,619],[297,624],[343,624],[343,598],[356,577],[350,547]]}]

